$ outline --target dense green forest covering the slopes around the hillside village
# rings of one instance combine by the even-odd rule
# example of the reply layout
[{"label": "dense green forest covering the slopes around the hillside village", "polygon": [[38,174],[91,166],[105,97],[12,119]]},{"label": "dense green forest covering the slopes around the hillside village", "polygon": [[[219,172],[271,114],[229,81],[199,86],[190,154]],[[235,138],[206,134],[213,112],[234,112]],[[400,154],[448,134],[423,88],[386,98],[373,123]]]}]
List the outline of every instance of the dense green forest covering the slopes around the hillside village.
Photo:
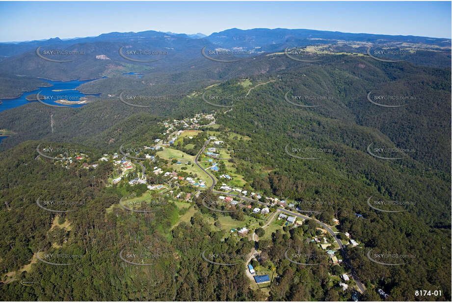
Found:
[{"label": "dense green forest covering the slopes around the hillside village", "polygon": [[[15,61],[6,63],[13,66]],[[103,64],[92,69],[101,73]],[[211,192],[194,198],[189,206],[193,215],[185,222],[178,223],[178,218],[188,208],[166,197],[159,197],[164,206],[150,213],[131,212],[121,208],[119,200],[141,196],[146,187],[110,186],[108,178],[114,172],[110,162],[100,162],[96,169],[64,168],[36,151],[44,141],[84,149],[97,160],[103,153],[119,152],[122,145],[149,146],[163,138],[163,121],[201,112],[214,112],[218,126],[204,129],[247,136],[228,143],[237,151],[230,162],[247,190],[280,199],[328,202],[309,210],[319,211],[313,218],[327,224],[337,218],[341,233],[349,232],[363,244],[341,252],[369,290],[362,300],[380,301],[375,288],[384,289],[394,301],[451,300],[450,68],[388,64],[348,55],[325,56],[318,64],[299,63],[281,54],[212,66],[193,59],[180,70],[156,67],[150,72],[142,67],[146,75],[140,79],[116,73],[84,84],[82,91],[102,89],[103,94],[80,108],[55,109],[31,102],[0,112],[0,129],[14,133],[0,144],[0,269],[4,278],[31,262],[20,278],[33,282],[27,287],[19,279],[1,285],[2,300],[350,300],[351,293],[338,291],[340,286],[328,278],[326,262],[303,267],[284,256],[288,249],[319,252],[304,241],[315,235],[315,220],[297,229],[284,227],[259,242],[225,237],[204,216],[223,216],[203,208],[201,201]],[[27,80],[27,89],[37,84]],[[19,89],[19,82],[11,83],[7,85]],[[179,97],[137,108],[118,100],[122,91],[148,96],[171,92]],[[215,107],[203,101],[204,92],[237,101],[234,107]],[[368,100],[370,92],[370,98],[402,97],[396,103],[379,102],[403,106],[375,105]],[[230,99],[218,103],[231,105]],[[207,138],[206,133],[185,137],[173,147],[196,155]],[[405,151],[374,151],[380,157],[401,158],[385,160],[372,155],[370,146],[372,151],[382,147]],[[224,169],[219,162],[216,175]],[[144,166],[149,171],[153,164]],[[149,176],[148,181],[158,184],[162,179]],[[371,196],[412,203],[385,208],[401,212],[381,212],[369,207]],[[56,216],[37,205],[40,197],[82,203]],[[241,220],[249,212],[224,216]],[[357,213],[363,217],[357,218]],[[256,233],[264,235],[264,230]],[[253,248],[262,251],[255,265],[275,275],[268,296],[249,287],[243,258],[237,266],[214,265],[202,258],[205,250],[247,255]],[[415,257],[403,266],[383,266],[369,260],[369,250]],[[38,251],[82,257],[71,260],[71,265],[52,266],[33,262]],[[146,252],[146,259],[129,261],[153,265],[125,262],[121,252]],[[48,261],[66,260],[55,256]],[[228,263],[221,258],[214,261]],[[334,268],[335,273],[343,272],[341,266]],[[416,297],[416,290],[441,290],[443,295]]]}]

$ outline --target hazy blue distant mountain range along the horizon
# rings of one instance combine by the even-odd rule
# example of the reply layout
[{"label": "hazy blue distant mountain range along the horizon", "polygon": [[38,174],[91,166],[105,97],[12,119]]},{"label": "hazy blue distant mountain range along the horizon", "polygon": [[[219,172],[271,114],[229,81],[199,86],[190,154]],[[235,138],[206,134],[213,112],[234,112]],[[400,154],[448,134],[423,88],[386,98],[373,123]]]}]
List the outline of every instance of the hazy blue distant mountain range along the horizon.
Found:
[{"label": "hazy blue distant mountain range along the horizon", "polygon": [[255,49],[261,51],[274,51],[281,47],[285,48],[288,44],[311,45],[316,43],[332,43],[338,41],[360,41],[368,43],[391,43],[404,42],[410,44],[427,44],[437,47],[450,47],[451,39],[430,38],[420,36],[393,36],[376,35],[366,33],[343,33],[339,31],[323,31],[312,29],[287,29],[287,28],[254,28],[239,29],[231,28],[220,32],[215,32],[209,36],[202,33],[196,34],[177,34],[172,32],[160,32],[147,30],[140,32],[111,32],[101,34],[96,37],[84,37],[74,39],[51,38],[48,40],[34,40],[26,42],[1,43],[0,57],[14,56],[26,51],[35,50],[39,46],[58,46],[65,47],[73,44],[95,43],[95,42],[117,42],[117,41],[135,41],[146,42],[147,39],[205,39],[206,42],[216,44],[224,48]]}]

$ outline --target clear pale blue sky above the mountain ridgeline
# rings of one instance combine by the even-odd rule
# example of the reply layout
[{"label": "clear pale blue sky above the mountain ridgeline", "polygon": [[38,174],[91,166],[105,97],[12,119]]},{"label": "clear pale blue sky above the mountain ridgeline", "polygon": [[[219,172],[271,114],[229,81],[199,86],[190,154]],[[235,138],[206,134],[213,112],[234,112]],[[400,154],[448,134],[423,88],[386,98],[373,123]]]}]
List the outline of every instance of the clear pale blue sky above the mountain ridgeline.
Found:
[{"label": "clear pale blue sky above the mountain ridgeline", "polygon": [[0,42],[234,27],[451,38],[451,24],[451,1],[0,2]]}]

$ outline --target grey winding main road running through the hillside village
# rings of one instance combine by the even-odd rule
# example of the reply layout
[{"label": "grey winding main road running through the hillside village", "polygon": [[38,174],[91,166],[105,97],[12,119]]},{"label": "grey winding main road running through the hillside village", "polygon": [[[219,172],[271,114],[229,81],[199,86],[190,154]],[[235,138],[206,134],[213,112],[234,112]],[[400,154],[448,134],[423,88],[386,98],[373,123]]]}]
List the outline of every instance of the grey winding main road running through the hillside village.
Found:
[{"label": "grey winding main road running through the hillside village", "polygon": [[[204,144],[204,146],[201,148],[201,150],[200,150],[200,151],[198,152],[198,154],[196,155],[196,157],[195,157],[195,164],[196,164],[200,169],[202,169],[209,177],[212,178],[213,183],[212,183],[212,186],[209,187],[209,189],[212,190],[212,189],[213,189],[213,186],[215,186],[215,183],[216,183],[215,178],[214,178],[211,174],[209,174],[209,172],[207,172],[203,167],[201,167],[201,165],[198,163],[198,157],[199,157],[199,155],[206,149],[206,147],[207,147],[207,145],[209,144],[209,142],[210,142],[210,140],[207,140],[206,143]],[[237,194],[232,194],[232,193],[227,193],[227,192],[220,192],[220,191],[215,191],[215,190],[212,190],[212,192],[215,193],[215,194],[225,194],[225,195],[229,195],[229,196],[241,198],[241,199],[243,199],[243,200],[245,200],[245,201],[248,201],[248,202],[256,202],[256,203],[259,203],[259,204],[261,204],[261,205],[271,206],[271,205],[269,205],[268,203],[260,202],[260,201],[258,201],[258,200],[254,200],[254,199],[247,198],[247,197],[244,197],[244,196],[240,196],[240,195],[237,195]],[[356,286],[358,287],[359,292],[360,292],[361,294],[363,294],[363,293],[366,291],[366,289],[364,288],[363,283],[358,279],[355,270],[351,267],[350,262],[349,262],[349,261],[347,260],[347,258],[346,258],[346,252],[345,252],[345,250],[344,250],[344,244],[342,244],[341,240],[336,236],[336,233],[331,229],[331,227],[329,227],[327,224],[325,224],[325,223],[323,223],[323,222],[317,220],[316,218],[311,218],[311,217],[308,217],[308,216],[305,216],[305,215],[301,215],[301,214],[298,214],[298,213],[294,213],[294,212],[289,211],[289,210],[287,210],[287,209],[285,209],[285,208],[282,208],[282,207],[278,207],[278,210],[279,210],[279,211],[282,211],[282,212],[284,212],[284,213],[286,213],[286,214],[288,214],[288,215],[294,216],[294,217],[303,218],[303,219],[308,219],[308,220],[314,220],[314,221],[316,221],[317,223],[319,223],[322,227],[324,227],[326,230],[328,230],[328,233],[333,237],[333,239],[334,239],[334,240],[336,241],[336,243],[339,245],[340,250],[343,252],[344,259],[345,259],[344,262],[345,262],[345,264],[347,265],[347,267],[350,269],[351,277],[355,280]]]}]

